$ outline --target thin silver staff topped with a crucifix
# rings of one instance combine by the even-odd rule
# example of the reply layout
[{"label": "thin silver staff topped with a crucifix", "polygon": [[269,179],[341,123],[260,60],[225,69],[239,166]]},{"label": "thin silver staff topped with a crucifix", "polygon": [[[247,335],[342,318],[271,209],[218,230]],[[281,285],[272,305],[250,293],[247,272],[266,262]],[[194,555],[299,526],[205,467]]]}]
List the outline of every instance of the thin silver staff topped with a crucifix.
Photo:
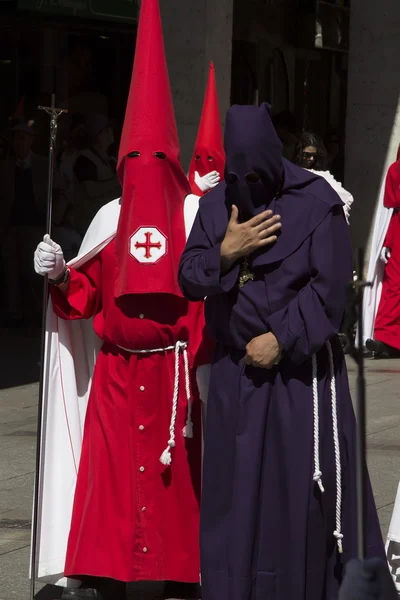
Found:
[{"label": "thin silver staff topped with a crucifix", "polygon": [[[54,182],[54,162],[57,137],[58,118],[63,113],[68,112],[63,108],[56,108],[55,95],[51,95],[51,106],[39,106],[39,110],[44,110],[50,115],[50,141],[49,141],[49,175],[47,186],[47,216],[46,233],[51,235],[51,217],[53,210],[53,182]],[[36,442],[36,468],[35,484],[33,496],[33,514],[32,514],[32,547],[31,547],[31,586],[30,600],[35,597],[35,578],[36,578],[36,558],[37,558],[37,534],[38,534],[38,516],[39,516],[39,488],[40,488],[40,465],[41,465],[41,441],[42,441],[42,418],[43,418],[43,391],[44,391],[44,370],[45,370],[45,346],[46,346],[46,314],[49,295],[48,277],[44,277],[43,286],[43,305],[42,305],[42,331],[41,331],[41,361],[40,361],[40,383],[39,383],[39,404],[37,413],[37,442]]]}]

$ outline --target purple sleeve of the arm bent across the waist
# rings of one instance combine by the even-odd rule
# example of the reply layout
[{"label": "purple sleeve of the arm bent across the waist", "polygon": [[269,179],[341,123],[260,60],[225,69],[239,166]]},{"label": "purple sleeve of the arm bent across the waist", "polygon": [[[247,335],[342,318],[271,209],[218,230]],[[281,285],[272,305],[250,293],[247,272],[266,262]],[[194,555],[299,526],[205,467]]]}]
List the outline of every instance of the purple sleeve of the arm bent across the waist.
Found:
[{"label": "purple sleeve of the arm bent across the waist", "polygon": [[312,234],[310,271],[309,283],[285,308],[268,318],[270,330],[296,364],[339,332],[353,272],[350,237],[341,208],[335,207]]}]

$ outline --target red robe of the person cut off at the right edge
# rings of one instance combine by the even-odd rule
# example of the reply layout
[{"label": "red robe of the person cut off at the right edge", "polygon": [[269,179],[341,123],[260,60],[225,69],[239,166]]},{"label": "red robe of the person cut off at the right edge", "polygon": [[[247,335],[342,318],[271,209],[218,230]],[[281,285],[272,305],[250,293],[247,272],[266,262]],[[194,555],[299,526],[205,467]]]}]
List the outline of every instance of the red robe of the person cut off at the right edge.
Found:
[{"label": "red robe of the person cut off at the right edge", "polygon": [[389,168],[383,203],[394,212],[384,243],[391,254],[385,266],[374,335],[376,340],[400,350],[400,161]]}]

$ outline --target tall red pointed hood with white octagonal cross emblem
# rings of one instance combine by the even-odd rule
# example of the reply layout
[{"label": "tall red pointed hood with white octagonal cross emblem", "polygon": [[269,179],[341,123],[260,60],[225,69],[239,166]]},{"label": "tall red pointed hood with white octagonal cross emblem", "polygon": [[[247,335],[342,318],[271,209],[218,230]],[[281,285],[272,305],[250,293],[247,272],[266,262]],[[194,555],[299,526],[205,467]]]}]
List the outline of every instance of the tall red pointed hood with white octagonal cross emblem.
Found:
[{"label": "tall red pointed hood with white octagonal cross emblem", "polygon": [[115,296],[182,296],[177,271],[186,241],[183,207],[190,188],[179,161],[158,0],[141,2],[118,175],[122,206]]}]

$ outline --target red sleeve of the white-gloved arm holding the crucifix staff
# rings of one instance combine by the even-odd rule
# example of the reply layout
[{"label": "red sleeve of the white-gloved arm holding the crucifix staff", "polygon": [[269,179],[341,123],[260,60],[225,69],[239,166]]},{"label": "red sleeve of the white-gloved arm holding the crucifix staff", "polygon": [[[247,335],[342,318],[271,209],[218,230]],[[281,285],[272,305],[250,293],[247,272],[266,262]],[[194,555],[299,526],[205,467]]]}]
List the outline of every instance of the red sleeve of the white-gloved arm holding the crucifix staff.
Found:
[{"label": "red sleeve of the white-gloved arm holding the crucifix staff", "polygon": [[101,261],[100,255],[83,265],[79,271],[71,269],[69,288],[66,293],[51,288],[54,312],[68,321],[90,319],[101,307]]}]

